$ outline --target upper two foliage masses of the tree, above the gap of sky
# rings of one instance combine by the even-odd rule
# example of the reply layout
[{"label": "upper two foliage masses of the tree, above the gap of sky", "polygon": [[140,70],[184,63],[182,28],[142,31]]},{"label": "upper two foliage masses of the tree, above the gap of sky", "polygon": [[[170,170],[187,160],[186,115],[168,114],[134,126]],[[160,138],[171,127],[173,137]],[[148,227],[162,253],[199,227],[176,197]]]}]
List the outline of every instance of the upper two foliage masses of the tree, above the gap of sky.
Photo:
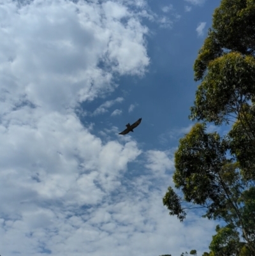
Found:
[{"label": "upper two foliage masses of the tree, above the gap of sky", "polygon": [[[255,91],[255,1],[222,0],[194,63],[202,80],[191,119],[228,122]],[[240,109],[241,108],[241,109]]]}]

